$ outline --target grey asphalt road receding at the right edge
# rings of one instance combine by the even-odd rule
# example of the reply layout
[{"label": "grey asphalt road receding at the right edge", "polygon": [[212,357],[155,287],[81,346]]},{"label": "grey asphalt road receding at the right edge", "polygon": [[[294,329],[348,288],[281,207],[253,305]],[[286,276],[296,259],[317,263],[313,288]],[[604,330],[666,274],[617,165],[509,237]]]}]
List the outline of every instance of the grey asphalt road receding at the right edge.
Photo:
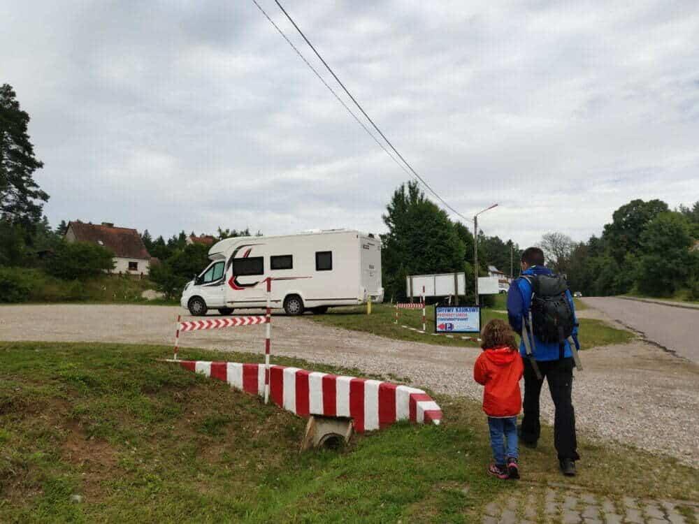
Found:
[{"label": "grey asphalt road receding at the right edge", "polygon": [[614,297],[584,298],[583,301],[642,333],[649,342],[699,363],[699,310]]}]

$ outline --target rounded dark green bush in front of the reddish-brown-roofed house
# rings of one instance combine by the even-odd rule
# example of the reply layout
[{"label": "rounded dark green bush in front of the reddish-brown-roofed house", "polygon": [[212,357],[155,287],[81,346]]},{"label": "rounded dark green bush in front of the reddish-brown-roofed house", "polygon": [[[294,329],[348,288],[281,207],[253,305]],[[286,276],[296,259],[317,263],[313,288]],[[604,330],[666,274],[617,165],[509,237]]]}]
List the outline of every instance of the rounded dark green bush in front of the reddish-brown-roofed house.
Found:
[{"label": "rounded dark green bush in front of the reddish-brown-roofed house", "polygon": [[114,269],[114,254],[91,242],[62,240],[48,257],[45,267],[50,275],[66,280],[94,277]]}]

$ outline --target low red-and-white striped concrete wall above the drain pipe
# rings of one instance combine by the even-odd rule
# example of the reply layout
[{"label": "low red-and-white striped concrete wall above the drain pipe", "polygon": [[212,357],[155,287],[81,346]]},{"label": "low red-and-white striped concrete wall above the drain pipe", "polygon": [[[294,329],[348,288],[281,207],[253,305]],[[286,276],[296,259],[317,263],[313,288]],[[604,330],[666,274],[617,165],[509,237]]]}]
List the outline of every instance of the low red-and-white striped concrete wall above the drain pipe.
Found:
[{"label": "low red-and-white striped concrete wall above the drain pipe", "polygon": [[[264,395],[298,416],[345,416],[354,419],[357,432],[377,430],[401,420],[439,424],[442,409],[424,391],[380,380],[338,377],[298,367],[263,364],[175,361],[194,371],[227,382],[231,387]],[[267,383],[266,377],[269,382]]]}]

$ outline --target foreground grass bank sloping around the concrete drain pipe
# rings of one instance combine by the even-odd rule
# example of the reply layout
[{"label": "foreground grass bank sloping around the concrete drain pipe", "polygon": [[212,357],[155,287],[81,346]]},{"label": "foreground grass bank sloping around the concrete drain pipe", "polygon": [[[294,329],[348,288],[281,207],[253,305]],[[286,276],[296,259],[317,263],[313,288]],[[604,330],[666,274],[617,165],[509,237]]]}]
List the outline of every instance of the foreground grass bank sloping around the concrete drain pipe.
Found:
[{"label": "foreground grass bank sloping around the concrete drain pipe", "polygon": [[[462,523],[479,521],[491,500],[567,482],[556,472],[550,428],[537,450],[522,450],[528,481],[487,476],[480,405],[442,395],[440,426],[399,424],[340,452],[299,453],[303,419],[156,361],[170,352],[0,343],[0,522]],[[577,486],[611,497],[699,496],[696,470],[675,460],[579,441]]]}]

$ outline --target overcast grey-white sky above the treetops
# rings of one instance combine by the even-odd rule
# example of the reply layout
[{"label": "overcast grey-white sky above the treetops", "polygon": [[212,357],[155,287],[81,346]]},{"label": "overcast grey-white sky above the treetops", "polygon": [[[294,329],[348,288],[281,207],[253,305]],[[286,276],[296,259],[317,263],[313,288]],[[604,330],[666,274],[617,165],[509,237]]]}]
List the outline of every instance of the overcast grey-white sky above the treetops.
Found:
[{"label": "overcast grey-white sky above the treetops", "polygon": [[[633,198],[699,200],[696,0],[284,6],[452,207],[500,203],[488,235],[586,240]],[[6,1],[0,43],[52,224],[382,232],[408,178],[251,0]]]}]

